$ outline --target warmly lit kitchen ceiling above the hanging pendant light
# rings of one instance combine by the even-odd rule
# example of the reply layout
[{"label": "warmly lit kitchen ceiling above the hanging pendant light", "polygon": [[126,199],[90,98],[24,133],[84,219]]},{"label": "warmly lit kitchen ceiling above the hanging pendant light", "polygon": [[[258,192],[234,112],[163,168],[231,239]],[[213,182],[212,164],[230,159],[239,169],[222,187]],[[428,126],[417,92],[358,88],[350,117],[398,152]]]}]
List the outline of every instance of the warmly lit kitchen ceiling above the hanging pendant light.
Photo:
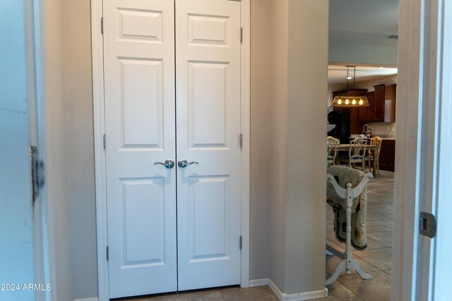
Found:
[{"label": "warmly lit kitchen ceiling above the hanging pendant light", "polygon": [[[397,68],[379,68],[379,67],[356,67],[355,81],[364,82],[367,80],[375,80],[388,75],[397,74]],[[353,68],[350,68],[349,75],[353,77]],[[346,66],[328,66],[328,85],[343,84],[347,82],[347,67]],[[349,80],[349,85],[353,85],[353,78]]]}]

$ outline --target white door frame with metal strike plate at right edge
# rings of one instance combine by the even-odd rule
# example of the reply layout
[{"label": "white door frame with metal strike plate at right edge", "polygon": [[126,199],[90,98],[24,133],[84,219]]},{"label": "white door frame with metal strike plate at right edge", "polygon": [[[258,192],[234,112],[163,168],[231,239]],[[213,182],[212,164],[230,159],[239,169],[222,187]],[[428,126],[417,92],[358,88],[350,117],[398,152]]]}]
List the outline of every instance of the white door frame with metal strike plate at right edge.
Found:
[{"label": "white door frame with metal strike plate at right edge", "polygon": [[[448,253],[447,247],[439,246],[451,242],[444,239],[447,221],[438,219],[439,208],[451,207],[444,201],[446,183],[451,183],[444,170],[450,161],[444,149],[451,145],[446,132],[452,124],[446,118],[451,106],[443,99],[451,95],[447,81],[452,72],[445,68],[451,61],[444,56],[451,49],[447,44],[451,39],[444,35],[451,18],[444,19],[444,14],[452,9],[445,4],[444,0],[399,2],[404,9],[399,9],[391,300],[431,300],[432,294],[441,292],[438,286],[444,285],[441,273],[450,274],[446,265],[437,264]],[[436,238],[420,235],[420,211],[438,219]]]}]

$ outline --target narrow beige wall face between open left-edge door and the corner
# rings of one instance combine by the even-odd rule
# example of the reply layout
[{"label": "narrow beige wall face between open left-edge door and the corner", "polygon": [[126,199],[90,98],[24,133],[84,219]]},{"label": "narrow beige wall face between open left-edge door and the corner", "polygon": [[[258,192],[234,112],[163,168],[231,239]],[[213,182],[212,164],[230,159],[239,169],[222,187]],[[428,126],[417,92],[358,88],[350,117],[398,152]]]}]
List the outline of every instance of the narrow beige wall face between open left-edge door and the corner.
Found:
[{"label": "narrow beige wall face between open left-edge door and the corner", "polygon": [[42,102],[45,187],[52,300],[72,300],[71,236],[69,223],[66,104],[64,102],[64,6],[58,0],[40,1]]}]

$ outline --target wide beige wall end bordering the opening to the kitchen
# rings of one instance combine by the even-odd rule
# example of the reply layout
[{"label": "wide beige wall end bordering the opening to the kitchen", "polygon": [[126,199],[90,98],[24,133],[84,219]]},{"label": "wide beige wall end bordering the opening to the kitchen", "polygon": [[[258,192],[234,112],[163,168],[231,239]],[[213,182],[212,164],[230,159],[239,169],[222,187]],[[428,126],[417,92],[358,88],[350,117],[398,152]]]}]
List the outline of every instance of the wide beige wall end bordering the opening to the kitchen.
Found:
[{"label": "wide beige wall end bordering the opening to the kitchen", "polygon": [[[328,0],[289,0],[284,293],[325,287]],[[307,147],[309,146],[309,147]]]}]

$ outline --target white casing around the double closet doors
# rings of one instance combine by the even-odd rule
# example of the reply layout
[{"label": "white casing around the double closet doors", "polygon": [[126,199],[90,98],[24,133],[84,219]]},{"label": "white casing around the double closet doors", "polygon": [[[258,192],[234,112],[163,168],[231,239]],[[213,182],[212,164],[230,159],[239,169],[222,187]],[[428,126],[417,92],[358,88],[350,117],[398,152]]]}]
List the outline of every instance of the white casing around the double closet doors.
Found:
[{"label": "white casing around the double closet doors", "polygon": [[[230,0],[224,0],[230,1]],[[232,0],[235,1],[235,0]],[[249,175],[250,175],[250,97],[251,97],[251,6],[250,0],[240,1],[243,42],[240,49],[240,94],[241,94],[241,130],[242,147],[242,254],[241,287],[249,287]],[[96,233],[97,233],[97,283],[99,300],[109,300],[107,239],[107,175],[105,172],[105,98],[104,63],[101,32],[102,0],[91,1],[91,43],[93,60],[93,117],[95,152],[95,197],[96,197]]]}]

